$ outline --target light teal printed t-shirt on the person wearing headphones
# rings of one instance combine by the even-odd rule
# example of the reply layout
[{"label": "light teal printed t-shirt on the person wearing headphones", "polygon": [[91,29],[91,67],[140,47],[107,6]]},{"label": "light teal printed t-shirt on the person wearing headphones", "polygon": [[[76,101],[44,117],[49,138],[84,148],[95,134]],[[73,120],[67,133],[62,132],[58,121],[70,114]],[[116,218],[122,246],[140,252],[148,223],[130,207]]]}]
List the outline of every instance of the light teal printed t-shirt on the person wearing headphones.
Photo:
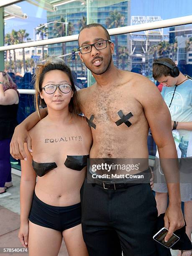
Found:
[{"label": "light teal printed t-shirt on the person wearing headphones", "polygon": [[[161,92],[167,107],[172,100],[174,87],[164,86]],[[190,122],[192,121],[192,80],[188,79],[177,86],[169,108],[172,121]],[[180,135],[179,148],[182,151],[182,157],[192,156],[192,131],[178,130]]]}]

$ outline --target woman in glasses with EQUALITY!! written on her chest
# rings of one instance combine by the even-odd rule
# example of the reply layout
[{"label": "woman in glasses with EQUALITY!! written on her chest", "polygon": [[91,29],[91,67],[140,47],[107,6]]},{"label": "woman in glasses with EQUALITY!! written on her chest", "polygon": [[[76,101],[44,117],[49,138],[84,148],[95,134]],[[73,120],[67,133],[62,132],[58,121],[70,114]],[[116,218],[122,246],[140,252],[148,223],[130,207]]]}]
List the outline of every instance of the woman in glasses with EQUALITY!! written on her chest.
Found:
[{"label": "woman in glasses with EQUALITY!! written on her chest", "polygon": [[28,155],[21,161],[20,242],[28,246],[30,256],[54,256],[64,238],[69,256],[87,256],[80,188],[92,144],[91,130],[77,115],[77,91],[63,61],[38,65],[35,89],[37,112],[46,103],[48,115],[31,129],[33,153],[25,145]]}]

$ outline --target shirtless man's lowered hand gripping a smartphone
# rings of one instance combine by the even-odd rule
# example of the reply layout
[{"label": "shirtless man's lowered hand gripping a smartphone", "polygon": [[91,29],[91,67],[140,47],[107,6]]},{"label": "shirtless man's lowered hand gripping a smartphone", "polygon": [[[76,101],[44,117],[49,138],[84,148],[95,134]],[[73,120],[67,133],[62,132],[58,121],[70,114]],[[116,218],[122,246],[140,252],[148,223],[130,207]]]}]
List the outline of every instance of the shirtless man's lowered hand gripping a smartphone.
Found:
[{"label": "shirtless man's lowered hand gripping a smartphone", "polygon": [[172,205],[169,202],[169,207],[165,212],[164,217],[164,227],[169,229],[168,233],[165,237],[165,242],[171,238],[173,232],[179,228],[184,226],[184,217],[182,214],[181,206],[179,205]]}]

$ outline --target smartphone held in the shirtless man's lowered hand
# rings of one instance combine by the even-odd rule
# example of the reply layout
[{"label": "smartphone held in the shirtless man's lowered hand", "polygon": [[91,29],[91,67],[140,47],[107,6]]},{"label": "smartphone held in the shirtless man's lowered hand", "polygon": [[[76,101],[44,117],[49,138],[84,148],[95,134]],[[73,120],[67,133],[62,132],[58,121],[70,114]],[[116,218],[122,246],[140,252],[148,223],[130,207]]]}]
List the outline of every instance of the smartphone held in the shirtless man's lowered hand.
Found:
[{"label": "smartphone held in the shirtless man's lowered hand", "polygon": [[171,248],[175,243],[177,243],[177,241],[179,241],[179,236],[176,236],[174,233],[171,236],[171,238],[169,238],[169,240],[167,242],[165,242],[164,238],[166,237],[166,234],[168,233],[168,229],[166,228],[161,228],[159,230],[159,232],[157,232],[153,238],[155,241],[157,241],[158,243],[161,243],[162,245],[164,245],[166,248]]}]

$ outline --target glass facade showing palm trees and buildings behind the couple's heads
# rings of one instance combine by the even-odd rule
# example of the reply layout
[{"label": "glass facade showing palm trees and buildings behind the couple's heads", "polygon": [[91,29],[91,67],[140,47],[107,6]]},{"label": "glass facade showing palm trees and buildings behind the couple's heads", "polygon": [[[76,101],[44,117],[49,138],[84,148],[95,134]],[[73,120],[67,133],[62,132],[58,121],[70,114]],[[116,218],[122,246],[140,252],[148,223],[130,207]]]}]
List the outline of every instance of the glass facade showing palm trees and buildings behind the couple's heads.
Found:
[{"label": "glass facade showing palm trees and buildings behind the couple's heads", "polygon": [[[177,4],[174,0],[170,0],[169,3],[165,0],[159,3],[153,0],[72,0],[65,2],[25,0],[3,8],[4,44],[18,44],[78,34],[88,21],[100,23],[105,28],[117,28],[190,15],[192,11],[189,0],[184,0],[182,3],[176,1]],[[171,13],[165,10],[164,7],[167,5],[172,6]],[[184,6],[189,6],[189,8],[184,8]],[[14,16],[14,13],[17,15]],[[177,64],[184,60],[186,64],[190,64],[190,38],[192,38],[192,26],[190,25],[111,36],[115,43],[113,60],[118,68],[139,69],[139,72],[151,77],[152,52],[153,57],[169,56],[173,57]],[[77,41],[72,41],[45,45],[36,47],[36,49],[33,47],[31,51],[24,49],[24,53],[19,51],[18,55],[24,56],[25,54],[26,59],[31,59],[32,55],[40,56],[38,59],[40,61],[50,56],[61,56],[77,73],[77,77],[87,77],[87,70],[83,67],[78,54],[72,56],[72,52],[77,52],[77,48]],[[13,71],[14,54],[13,50],[4,54],[5,67],[9,72]],[[23,69],[20,70],[22,75],[29,71],[27,66],[23,64]],[[94,80],[92,79],[91,82]]]}]

